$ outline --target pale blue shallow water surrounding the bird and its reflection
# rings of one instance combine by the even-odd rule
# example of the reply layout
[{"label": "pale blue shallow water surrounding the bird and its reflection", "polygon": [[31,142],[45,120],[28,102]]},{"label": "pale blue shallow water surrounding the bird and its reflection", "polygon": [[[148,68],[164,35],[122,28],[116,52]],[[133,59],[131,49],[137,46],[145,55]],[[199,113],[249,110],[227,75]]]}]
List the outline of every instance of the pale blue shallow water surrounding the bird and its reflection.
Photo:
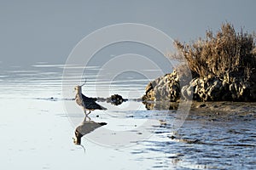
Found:
[{"label": "pale blue shallow water surrounding the bird and its reflection", "polygon": [[[177,128],[177,111],[148,111],[135,100],[118,106],[99,102],[108,110],[92,111],[90,120],[108,124],[82,137],[84,153],[72,139],[84,114],[73,101],[73,89],[69,97],[63,96],[62,69],[38,64],[1,71],[0,169],[256,168],[253,103],[195,107]],[[96,77],[97,67],[86,71],[83,92],[91,97],[120,94],[137,99],[149,81],[125,73],[108,82]],[[71,87],[79,82],[83,78],[70,77]]]}]

